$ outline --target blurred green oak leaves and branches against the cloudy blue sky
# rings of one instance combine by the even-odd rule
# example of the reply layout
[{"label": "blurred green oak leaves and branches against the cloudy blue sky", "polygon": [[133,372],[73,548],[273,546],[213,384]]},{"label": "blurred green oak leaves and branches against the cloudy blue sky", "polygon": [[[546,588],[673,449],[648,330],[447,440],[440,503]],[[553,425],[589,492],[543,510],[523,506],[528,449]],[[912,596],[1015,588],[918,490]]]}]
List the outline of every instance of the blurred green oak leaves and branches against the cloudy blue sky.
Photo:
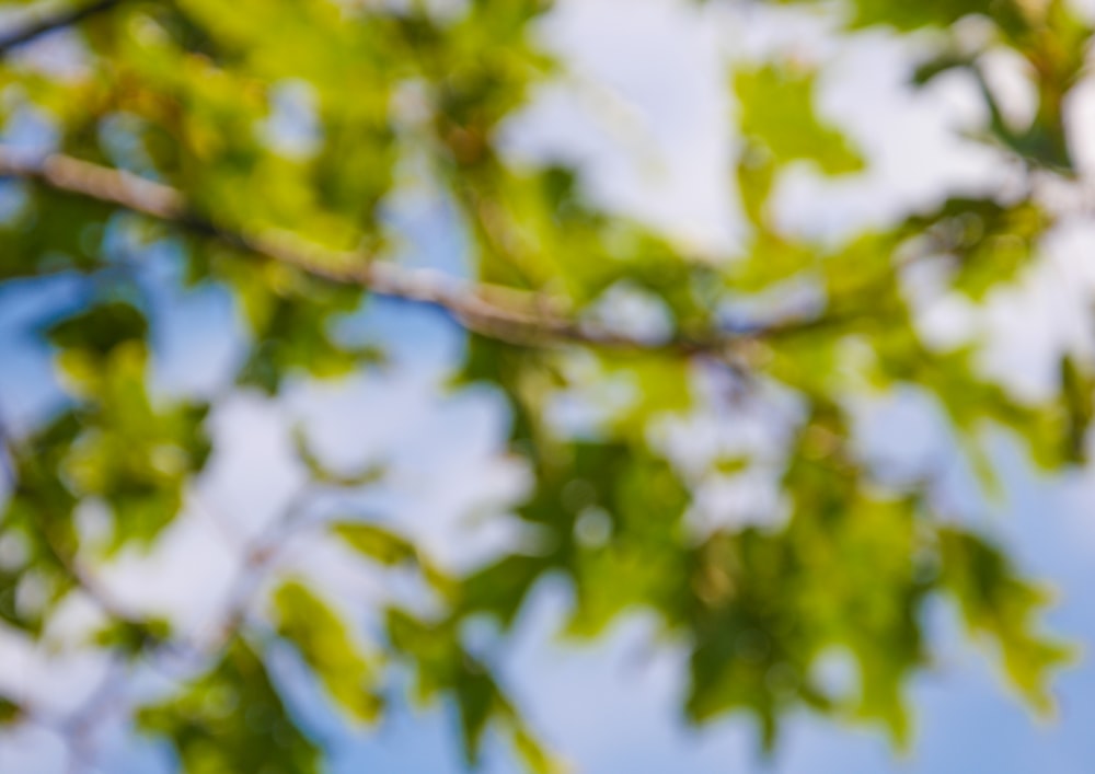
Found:
[{"label": "blurred green oak leaves and branches against the cloudy blue sky", "polygon": [[[483,619],[508,631],[548,577],[573,591],[572,636],[650,614],[690,655],[688,717],[748,713],[769,747],[803,707],[906,743],[904,686],[931,667],[923,616],[937,599],[953,601],[1011,683],[1048,712],[1047,682],[1069,649],[1039,628],[1045,592],[952,511],[937,471],[867,454],[856,408],[880,395],[925,397],[989,492],[992,428],[1048,470],[1083,461],[1093,363],[1062,355],[1056,394],[1017,397],[978,368],[976,342],[926,339],[911,286],[930,265],[944,277],[937,293],[980,303],[1039,259],[1062,217],[1045,192],[1075,185],[1063,111],[1091,30],[1064,0],[797,4],[817,4],[841,34],[885,26],[889,45],[915,42],[913,85],[950,71],[971,78],[989,116],[973,139],[1014,171],[1015,190],[949,198],[835,242],[788,233],[771,204],[786,170],[856,175],[869,161],[816,109],[808,62],[739,63],[727,79],[739,152],[726,172],[748,236],[735,255],[696,256],[598,206],[580,169],[506,153],[507,122],[560,72],[534,34],[550,2],[5,3],[18,8],[15,32],[0,41],[0,280],[32,287],[64,275],[80,288],[38,331],[67,400],[5,438],[0,532],[19,546],[0,565],[5,631],[43,636],[82,597],[102,614],[85,646],[123,671],[182,658],[187,677],[126,711],[194,774],[319,771],[320,746],[269,674],[279,648],[348,723],[372,724],[401,701],[391,691],[401,667],[415,697],[458,708],[469,761],[491,730],[531,771],[552,771],[552,753],[468,636]],[[983,34],[967,34],[970,16]],[[58,30],[74,68],[24,56]],[[1025,62],[1037,93],[1025,126],[1005,119],[984,74],[987,54],[1002,50]],[[28,123],[30,142],[19,130]],[[466,277],[399,259],[385,208],[422,184],[456,213]],[[224,393],[158,389],[161,310],[143,274],[155,263],[178,269],[166,281],[231,293],[247,337]],[[787,310],[782,299],[803,288],[807,302]],[[653,303],[665,324],[614,323],[609,300],[620,292]],[[505,395],[510,448],[533,474],[517,518],[534,545],[457,569],[397,520],[315,518],[295,500],[244,546],[215,636],[119,604],[99,568],[151,550],[182,518],[216,453],[207,425],[218,401],[383,368],[382,346],[339,334],[378,297],[434,307],[466,331],[452,389],[488,383]],[[627,385],[626,398],[599,402],[610,383]],[[561,426],[552,406],[564,395],[596,418]],[[713,416],[761,426],[769,441],[683,463],[667,428],[687,439]],[[313,488],[383,481],[382,470],[333,470],[307,427],[297,447]],[[696,493],[712,481],[774,494],[763,518],[704,520]],[[89,504],[108,513],[110,540],[79,529]],[[280,571],[281,543],[301,532],[328,535],[384,577],[413,578],[415,600],[372,611],[379,624],[359,631],[367,602]],[[833,650],[856,666],[854,690],[818,678]],[[0,721],[43,720],[10,696]]]}]

